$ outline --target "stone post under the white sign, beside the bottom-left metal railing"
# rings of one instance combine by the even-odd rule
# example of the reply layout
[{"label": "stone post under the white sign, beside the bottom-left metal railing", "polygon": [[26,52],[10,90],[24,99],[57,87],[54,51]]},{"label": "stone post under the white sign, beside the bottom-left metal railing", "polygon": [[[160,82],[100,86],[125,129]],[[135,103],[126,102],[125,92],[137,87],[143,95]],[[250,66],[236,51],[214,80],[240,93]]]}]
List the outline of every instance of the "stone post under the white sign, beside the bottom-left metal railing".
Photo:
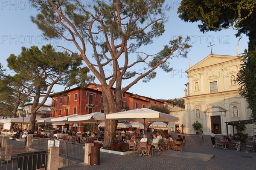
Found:
[{"label": "stone post under the white sign, beside the bottom-left metal railing", "polygon": [[49,147],[47,170],[58,170],[59,147]]}]

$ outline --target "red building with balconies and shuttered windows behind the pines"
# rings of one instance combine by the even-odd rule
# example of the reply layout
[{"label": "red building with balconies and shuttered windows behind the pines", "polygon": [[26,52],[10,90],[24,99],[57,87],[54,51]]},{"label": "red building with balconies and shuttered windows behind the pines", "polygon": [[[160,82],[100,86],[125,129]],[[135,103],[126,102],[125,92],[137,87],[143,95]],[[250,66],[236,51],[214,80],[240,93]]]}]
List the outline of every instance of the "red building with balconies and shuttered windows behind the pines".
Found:
[{"label": "red building with balconies and shuttered windows behind the pines", "polygon": [[[113,95],[115,95],[115,89],[112,90]],[[85,115],[92,112],[104,112],[102,88],[98,84],[89,84],[85,89],[76,87],[57,92],[49,97],[52,98],[51,117],[58,118],[73,114]],[[125,92],[122,95],[120,111],[143,107],[150,109],[152,105],[163,106],[163,104],[162,101]],[[83,127],[84,124],[79,124],[78,130],[83,131]]]}]

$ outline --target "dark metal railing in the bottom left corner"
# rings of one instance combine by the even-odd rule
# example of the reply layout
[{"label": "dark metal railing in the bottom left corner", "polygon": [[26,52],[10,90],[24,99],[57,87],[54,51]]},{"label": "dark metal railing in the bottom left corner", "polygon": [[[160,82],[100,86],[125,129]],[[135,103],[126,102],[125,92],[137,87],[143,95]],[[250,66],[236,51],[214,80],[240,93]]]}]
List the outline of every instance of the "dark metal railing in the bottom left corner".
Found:
[{"label": "dark metal railing in the bottom left corner", "polygon": [[47,157],[47,151],[22,153],[15,157],[11,154],[1,155],[0,170],[46,170]]}]

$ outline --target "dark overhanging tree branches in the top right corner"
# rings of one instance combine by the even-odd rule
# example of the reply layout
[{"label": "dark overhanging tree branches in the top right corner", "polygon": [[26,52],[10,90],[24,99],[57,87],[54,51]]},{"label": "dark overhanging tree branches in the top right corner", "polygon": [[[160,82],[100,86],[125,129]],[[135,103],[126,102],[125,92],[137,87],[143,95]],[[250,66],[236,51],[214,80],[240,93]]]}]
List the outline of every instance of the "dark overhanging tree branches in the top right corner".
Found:
[{"label": "dark overhanging tree branches in the top right corner", "polygon": [[255,0],[182,0],[178,8],[180,19],[186,22],[201,21],[201,32],[220,31],[233,27],[236,36],[249,37],[249,50],[256,45]]}]

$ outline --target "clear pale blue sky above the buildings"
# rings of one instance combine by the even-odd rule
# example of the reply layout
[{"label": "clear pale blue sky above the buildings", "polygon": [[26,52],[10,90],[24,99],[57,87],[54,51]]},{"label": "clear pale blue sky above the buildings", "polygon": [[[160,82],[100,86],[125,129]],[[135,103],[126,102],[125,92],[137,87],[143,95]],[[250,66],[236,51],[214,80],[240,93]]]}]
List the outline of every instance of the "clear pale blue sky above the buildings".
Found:
[{"label": "clear pale blue sky above the buildings", "polygon": [[[85,3],[92,1],[83,0]],[[192,66],[203,60],[210,54],[210,48],[207,47],[210,43],[212,53],[217,55],[236,55],[236,45],[239,44],[239,52],[244,52],[247,49],[248,38],[242,35],[241,39],[235,37],[236,30],[226,29],[221,32],[206,32],[202,33],[198,29],[199,23],[186,23],[180,20],[177,14],[177,7],[180,4],[178,0],[167,0],[171,6],[170,12],[167,13],[169,20],[165,23],[165,33],[163,36],[155,38],[154,42],[148,46],[143,46],[140,50],[155,54],[163,48],[163,45],[168,44],[170,40],[178,36],[190,37],[189,44],[192,47],[189,50],[187,58],[173,58],[170,61],[172,72],[166,73],[161,69],[157,69],[156,78],[148,83],[139,81],[131,87],[128,92],[148,96],[153,99],[172,99],[182,98],[184,89],[188,82],[186,70],[189,69],[189,59]],[[0,63],[8,70],[10,74],[14,74],[7,67],[6,59],[10,54],[19,55],[21,47],[25,46],[41,46],[51,43],[56,49],[57,46],[71,47],[68,42],[63,40],[45,40],[41,30],[31,22],[30,16],[35,16],[37,11],[32,7],[28,0],[0,0]],[[74,49],[74,51],[77,51]],[[131,56],[132,57],[132,56]],[[142,69],[140,66],[135,69]],[[95,81],[95,83],[99,83]],[[129,82],[124,81],[123,86]],[[55,86],[54,91],[59,92],[64,90],[64,86]],[[45,104],[50,104],[48,99]]]}]

